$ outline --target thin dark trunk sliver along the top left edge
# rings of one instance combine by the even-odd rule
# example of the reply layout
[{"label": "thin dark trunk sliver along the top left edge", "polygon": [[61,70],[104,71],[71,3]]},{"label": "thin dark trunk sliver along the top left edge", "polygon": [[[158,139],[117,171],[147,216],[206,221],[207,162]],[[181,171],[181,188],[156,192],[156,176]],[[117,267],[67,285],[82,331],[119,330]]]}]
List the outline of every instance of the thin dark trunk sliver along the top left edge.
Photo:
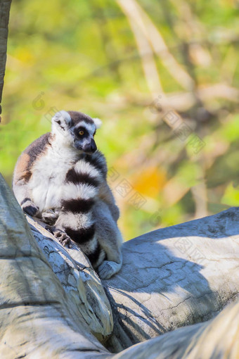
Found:
[{"label": "thin dark trunk sliver along the top left edge", "polygon": [[1,114],[1,95],[4,87],[4,75],[5,75],[5,66],[6,66],[6,44],[8,40],[8,20],[9,20],[10,6],[11,6],[11,0],[1,0],[0,2],[0,114]]}]

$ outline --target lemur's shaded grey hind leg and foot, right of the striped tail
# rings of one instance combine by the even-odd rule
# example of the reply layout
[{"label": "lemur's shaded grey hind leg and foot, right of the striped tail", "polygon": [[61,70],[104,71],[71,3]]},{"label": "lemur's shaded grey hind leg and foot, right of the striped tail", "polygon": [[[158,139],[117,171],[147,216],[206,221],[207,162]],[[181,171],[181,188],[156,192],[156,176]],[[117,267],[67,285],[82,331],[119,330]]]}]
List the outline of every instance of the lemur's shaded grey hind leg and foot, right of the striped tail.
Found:
[{"label": "lemur's shaded grey hind leg and foot, right of the striped tail", "polygon": [[93,209],[93,215],[97,218],[96,238],[107,257],[97,271],[101,279],[108,279],[122,267],[122,235],[105,203],[98,203]]}]

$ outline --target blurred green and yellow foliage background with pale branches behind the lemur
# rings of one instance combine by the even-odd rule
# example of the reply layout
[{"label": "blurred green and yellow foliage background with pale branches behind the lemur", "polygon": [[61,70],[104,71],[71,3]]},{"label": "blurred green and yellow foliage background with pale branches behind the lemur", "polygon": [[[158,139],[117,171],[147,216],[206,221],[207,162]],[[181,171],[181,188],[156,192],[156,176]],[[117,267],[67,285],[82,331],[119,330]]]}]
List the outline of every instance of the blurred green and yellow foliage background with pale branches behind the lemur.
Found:
[{"label": "blurred green and yellow foliage background with pale branches behind the lemur", "polygon": [[124,238],[239,202],[238,1],[15,0],[0,171],[65,109],[98,148]]}]

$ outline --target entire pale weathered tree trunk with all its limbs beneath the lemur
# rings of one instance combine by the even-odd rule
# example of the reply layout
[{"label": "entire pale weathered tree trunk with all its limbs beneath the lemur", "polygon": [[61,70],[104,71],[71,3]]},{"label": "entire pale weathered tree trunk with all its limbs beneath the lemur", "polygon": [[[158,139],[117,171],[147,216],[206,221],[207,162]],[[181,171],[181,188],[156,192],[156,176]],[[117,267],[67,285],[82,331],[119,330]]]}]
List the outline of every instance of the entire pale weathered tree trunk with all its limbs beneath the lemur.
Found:
[{"label": "entire pale weathered tree trunk with all its limbs beneath the lemur", "polygon": [[[124,244],[122,270],[103,283],[112,351],[206,320],[237,298],[238,216],[232,208]],[[238,358],[239,303],[111,354],[98,341],[112,332],[101,281],[78,248],[29,221],[32,231],[0,176],[0,358]],[[200,256],[185,250],[188,240]]]}]

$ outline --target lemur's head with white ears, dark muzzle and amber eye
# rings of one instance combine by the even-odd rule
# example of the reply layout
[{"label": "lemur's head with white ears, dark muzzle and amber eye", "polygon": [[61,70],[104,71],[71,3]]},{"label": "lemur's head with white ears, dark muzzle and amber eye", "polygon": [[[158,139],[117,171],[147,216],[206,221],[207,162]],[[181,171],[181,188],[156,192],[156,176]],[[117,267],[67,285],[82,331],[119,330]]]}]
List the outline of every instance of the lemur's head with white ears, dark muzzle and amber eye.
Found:
[{"label": "lemur's head with white ears, dark muzzle and amber eye", "polygon": [[77,111],[59,111],[53,117],[52,124],[53,132],[61,135],[60,139],[64,144],[86,153],[96,151],[97,146],[93,137],[96,129],[101,127],[101,120],[98,118],[90,118]]}]

